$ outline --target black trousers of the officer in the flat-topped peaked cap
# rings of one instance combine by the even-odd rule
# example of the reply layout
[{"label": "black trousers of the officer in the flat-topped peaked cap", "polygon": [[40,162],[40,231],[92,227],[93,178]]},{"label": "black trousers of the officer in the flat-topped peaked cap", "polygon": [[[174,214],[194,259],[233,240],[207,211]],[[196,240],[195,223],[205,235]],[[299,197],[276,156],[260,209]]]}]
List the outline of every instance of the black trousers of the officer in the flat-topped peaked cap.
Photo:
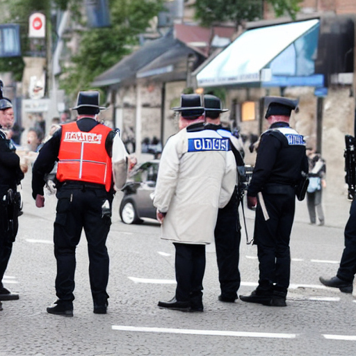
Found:
[{"label": "black trousers of the officer in the flat-topped peaked cap", "polygon": [[259,294],[286,297],[291,275],[289,240],[296,210],[296,191],[292,186],[271,186],[264,190],[269,219],[261,204],[254,222],[254,245],[259,258]]}]

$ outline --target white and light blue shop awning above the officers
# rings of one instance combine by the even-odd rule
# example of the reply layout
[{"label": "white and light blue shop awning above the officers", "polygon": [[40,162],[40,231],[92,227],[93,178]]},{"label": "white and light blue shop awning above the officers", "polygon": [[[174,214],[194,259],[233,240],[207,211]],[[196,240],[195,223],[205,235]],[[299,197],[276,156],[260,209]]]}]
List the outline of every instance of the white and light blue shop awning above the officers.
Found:
[{"label": "white and light blue shop awning above the officers", "polygon": [[[197,84],[210,86],[322,86],[314,75],[319,19],[245,31],[197,73]],[[280,83],[281,81],[281,83]]]}]

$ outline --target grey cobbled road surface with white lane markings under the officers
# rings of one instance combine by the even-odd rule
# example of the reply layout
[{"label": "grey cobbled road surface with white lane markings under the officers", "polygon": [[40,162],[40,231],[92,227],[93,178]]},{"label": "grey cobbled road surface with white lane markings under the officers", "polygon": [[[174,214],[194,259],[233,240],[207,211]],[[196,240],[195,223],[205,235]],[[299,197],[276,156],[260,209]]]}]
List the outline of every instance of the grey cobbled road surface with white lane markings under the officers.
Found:
[{"label": "grey cobbled road surface with white lane markings under the officers", "polygon": [[[345,197],[325,195],[326,225],[308,224],[306,202],[297,204],[291,236],[291,287],[286,308],[218,301],[213,246],[207,248],[204,313],[159,309],[175,292],[174,247],[159,238],[159,225],[124,225],[115,198],[108,237],[111,257],[108,314],[92,313],[86,240],[77,249],[74,317],[49,315],[56,300],[52,229],[56,198],[44,209],[31,198],[31,175],[24,181],[24,215],[6,271],[5,285],[20,299],[3,302],[0,356],[55,355],[355,355],[356,303],[353,295],[327,289],[318,277],[337,271],[348,218]],[[250,238],[253,212],[245,211]],[[255,246],[241,241],[239,293],[258,280]],[[339,338],[339,339],[338,339]]]}]

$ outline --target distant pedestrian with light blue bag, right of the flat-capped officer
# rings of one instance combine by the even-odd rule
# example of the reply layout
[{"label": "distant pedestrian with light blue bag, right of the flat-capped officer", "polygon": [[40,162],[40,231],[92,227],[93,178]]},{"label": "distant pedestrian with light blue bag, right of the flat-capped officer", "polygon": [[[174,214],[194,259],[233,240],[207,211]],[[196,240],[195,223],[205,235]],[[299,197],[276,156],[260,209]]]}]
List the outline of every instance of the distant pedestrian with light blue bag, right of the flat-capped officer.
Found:
[{"label": "distant pedestrian with light blue bag, right of the flat-capped officer", "polygon": [[315,149],[307,148],[307,156],[309,162],[309,186],[307,188],[307,207],[309,212],[310,223],[316,224],[316,216],[318,216],[319,225],[325,224],[323,206],[321,204],[323,188],[326,187],[325,161],[321,158],[321,154],[315,152]]}]

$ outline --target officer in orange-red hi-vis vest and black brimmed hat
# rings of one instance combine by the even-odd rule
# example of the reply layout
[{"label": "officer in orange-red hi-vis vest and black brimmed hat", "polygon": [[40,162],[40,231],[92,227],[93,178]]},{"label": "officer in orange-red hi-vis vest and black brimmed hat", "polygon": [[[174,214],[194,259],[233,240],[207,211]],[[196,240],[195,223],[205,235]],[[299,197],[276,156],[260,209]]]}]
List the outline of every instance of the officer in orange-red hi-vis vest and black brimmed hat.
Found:
[{"label": "officer in orange-red hi-vis vest and black brimmed hat", "polygon": [[49,314],[73,316],[75,250],[86,233],[89,277],[95,314],[108,307],[108,251],[106,238],[111,225],[115,190],[127,178],[128,156],[118,131],[97,121],[99,92],[79,92],[75,122],[63,124],[40,150],[33,165],[32,195],[36,207],[44,207],[46,175],[56,161],[56,220],[54,255],[57,261],[56,295]]}]

